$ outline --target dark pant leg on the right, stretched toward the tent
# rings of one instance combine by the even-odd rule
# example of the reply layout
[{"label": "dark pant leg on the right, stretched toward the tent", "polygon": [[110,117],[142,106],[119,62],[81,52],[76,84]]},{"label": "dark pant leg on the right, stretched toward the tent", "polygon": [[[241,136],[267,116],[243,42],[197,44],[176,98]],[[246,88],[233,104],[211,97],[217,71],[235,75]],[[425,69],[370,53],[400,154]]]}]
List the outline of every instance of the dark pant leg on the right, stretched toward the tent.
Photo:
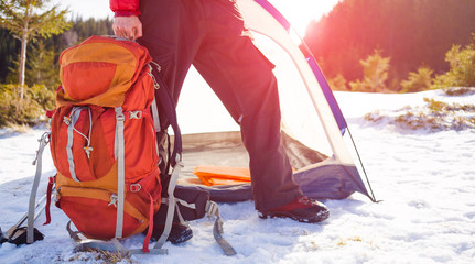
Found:
[{"label": "dark pant leg on the right, stretched toward the tent", "polygon": [[280,136],[280,107],[272,65],[255,47],[234,1],[203,1],[205,38],[194,65],[234,119],[250,157],[258,210],[291,202],[302,195]]}]

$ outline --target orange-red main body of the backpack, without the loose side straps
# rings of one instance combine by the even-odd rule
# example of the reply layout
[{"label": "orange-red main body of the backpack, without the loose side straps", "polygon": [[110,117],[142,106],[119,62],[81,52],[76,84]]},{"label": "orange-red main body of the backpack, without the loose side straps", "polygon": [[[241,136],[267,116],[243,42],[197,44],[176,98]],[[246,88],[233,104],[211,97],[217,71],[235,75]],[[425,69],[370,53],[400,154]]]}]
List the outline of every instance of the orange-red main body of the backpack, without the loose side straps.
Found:
[{"label": "orange-red main body of the backpack, without the loose side straps", "polygon": [[150,62],[145,47],[107,36],[64,51],[51,122],[56,206],[88,239],[149,228],[144,252],[161,204]]}]

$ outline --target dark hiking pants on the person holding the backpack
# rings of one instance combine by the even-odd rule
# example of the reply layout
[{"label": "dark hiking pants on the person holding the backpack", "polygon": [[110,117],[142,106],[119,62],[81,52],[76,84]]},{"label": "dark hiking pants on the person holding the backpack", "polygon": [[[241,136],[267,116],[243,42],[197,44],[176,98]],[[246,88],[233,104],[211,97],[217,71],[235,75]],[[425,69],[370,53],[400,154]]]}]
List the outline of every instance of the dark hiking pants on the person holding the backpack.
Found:
[{"label": "dark hiking pants on the person holding the backpack", "polygon": [[255,47],[233,0],[141,0],[141,44],[176,106],[193,64],[241,128],[258,210],[302,194],[281,143],[273,65]]}]

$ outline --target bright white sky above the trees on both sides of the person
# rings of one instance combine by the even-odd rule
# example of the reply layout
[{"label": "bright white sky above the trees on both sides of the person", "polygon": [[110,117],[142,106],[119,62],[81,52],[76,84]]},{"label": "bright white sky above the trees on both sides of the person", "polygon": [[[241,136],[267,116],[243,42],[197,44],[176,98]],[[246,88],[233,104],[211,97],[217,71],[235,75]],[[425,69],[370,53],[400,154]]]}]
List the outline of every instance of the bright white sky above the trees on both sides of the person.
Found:
[{"label": "bright white sky above the trees on both sides of the person", "polygon": [[[303,35],[307,23],[330,12],[339,0],[269,0],[292,23],[299,34]],[[69,8],[72,15],[87,18],[112,16],[107,0],[53,0],[62,7]]]}]

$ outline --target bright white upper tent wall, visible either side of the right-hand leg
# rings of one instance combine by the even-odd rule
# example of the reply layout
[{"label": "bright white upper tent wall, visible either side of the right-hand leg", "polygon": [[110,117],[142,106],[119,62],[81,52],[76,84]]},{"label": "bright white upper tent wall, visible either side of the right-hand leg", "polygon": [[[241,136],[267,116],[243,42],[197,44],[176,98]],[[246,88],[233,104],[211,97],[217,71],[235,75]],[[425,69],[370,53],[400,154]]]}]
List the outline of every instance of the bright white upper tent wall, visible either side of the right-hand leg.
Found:
[{"label": "bright white upper tent wall, visible either side of the right-hand leg", "polygon": [[[238,0],[246,25],[256,44],[277,65],[284,131],[311,148],[334,154],[336,160],[353,164],[339,128],[305,57],[279,22],[253,0]],[[270,41],[272,40],[272,41]],[[236,131],[222,102],[195,70],[191,70],[177,108],[183,133]]]}]

